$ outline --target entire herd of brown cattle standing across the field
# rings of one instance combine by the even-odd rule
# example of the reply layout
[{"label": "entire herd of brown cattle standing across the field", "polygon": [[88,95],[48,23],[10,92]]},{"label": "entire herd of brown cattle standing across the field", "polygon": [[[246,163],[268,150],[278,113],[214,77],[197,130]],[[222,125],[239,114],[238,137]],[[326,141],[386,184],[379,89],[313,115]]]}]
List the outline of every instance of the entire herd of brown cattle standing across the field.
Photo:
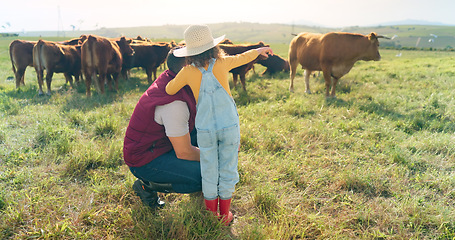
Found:
[{"label": "entire herd of brown cattle standing across the field", "polygon": [[[278,55],[268,58],[259,56],[252,62],[231,70],[234,86],[240,77],[245,88],[245,76],[255,63],[265,66],[263,74],[279,71],[291,72],[289,90],[293,91],[293,80],[298,64],[305,69],[306,92],[310,93],[309,76],[313,71],[322,71],[326,82],[326,96],[335,97],[338,79],[347,74],[358,60],[379,60],[379,41],[375,33],[369,35],[352,33],[297,35],[289,46],[289,61]],[[166,60],[168,52],[177,45],[171,42],[151,42],[138,36],[137,38],[105,38],[96,35],[82,35],[79,38],[63,42],[45,40],[24,41],[14,40],[10,44],[10,58],[16,79],[16,88],[25,85],[24,74],[28,66],[35,68],[39,94],[43,94],[43,77],[46,70],[47,94],[51,94],[51,82],[54,73],[63,73],[67,82],[73,86],[84,78],[86,95],[90,96],[92,79],[95,88],[104,93],[104,85],[110,90],[118,90],[118,79],[122,76],[129,79],[129,70],[143,68],[149,83],[156,79],[157,68]],[[220,48],[227,55],[243,53],[250,49],[269,46],[264,42],[256,44],[233,44],[229,40],[221,43]],[[153,74],[153,79],[152,79]],[[331,79],[334,79],[333,83]],[[114,85],[114,86],[112,86]],[[331,93],[329,94],[329,88]]]}]

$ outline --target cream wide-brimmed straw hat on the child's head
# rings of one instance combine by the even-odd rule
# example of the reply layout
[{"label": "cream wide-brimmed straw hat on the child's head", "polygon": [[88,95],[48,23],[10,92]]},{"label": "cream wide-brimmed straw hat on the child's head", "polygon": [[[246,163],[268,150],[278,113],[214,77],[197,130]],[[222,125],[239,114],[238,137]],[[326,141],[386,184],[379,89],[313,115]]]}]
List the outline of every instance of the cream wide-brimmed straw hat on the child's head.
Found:
[{"label": "cream wide-brimmed straw hat on the child's head", "polygon": [[188,57],[203,53],[224,40],[226,35],[213,39],[206,25],[191,25],[184,33],[186,46],[174,50],[176,57]]}]

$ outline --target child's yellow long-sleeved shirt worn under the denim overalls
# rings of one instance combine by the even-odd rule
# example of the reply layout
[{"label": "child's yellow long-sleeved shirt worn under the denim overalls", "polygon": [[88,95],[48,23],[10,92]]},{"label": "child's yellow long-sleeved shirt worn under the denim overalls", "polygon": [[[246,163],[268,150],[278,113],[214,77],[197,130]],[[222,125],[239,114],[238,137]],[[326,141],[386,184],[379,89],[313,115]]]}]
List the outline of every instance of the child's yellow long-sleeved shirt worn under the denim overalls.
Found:
[{"label": "child's yellow long-sleeved shirt worn under the denim overalls", "polygon": [[[218,59],[213,66],[213,75],[215,75],[221,86],[232,96],[229,88],[229,71],[233,68],[247,64],[259,55],[258,51],[253,49],[242,54],[234,56],[225,56]],[[207,69],[207,67],[206,67]],[[166,93],[169,95],[176,94],[185,85],[189,85],[193,91],[196,102],[199,98],[199,89],[201,87],[202,73],[198,68],[188,65],[184,67],[178,74],[166,85]]]}]

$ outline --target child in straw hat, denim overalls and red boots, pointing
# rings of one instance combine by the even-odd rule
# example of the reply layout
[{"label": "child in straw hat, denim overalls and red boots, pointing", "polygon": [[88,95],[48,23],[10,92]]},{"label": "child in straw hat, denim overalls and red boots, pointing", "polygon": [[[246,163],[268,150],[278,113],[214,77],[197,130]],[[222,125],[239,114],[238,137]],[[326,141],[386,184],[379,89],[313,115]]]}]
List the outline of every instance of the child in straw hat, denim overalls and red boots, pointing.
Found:
[{"label": "child in straw hat, denim overalls and red boots, pointing", "polygon": [[237,171],[240,126],[237,108],[229,89],[228,74],[259,55],[273,54],[269,47],[225,56],[217,44],[224,35],[214,39],[205,25],[192,25],[185,30],[186,47],[174,51],[186,57],[188,65],[166,86],[170,95],[189,85],[197,102],[196,129],[200,149],[202,193],[207,210],[229,225],[234,216],[230,211]]}]

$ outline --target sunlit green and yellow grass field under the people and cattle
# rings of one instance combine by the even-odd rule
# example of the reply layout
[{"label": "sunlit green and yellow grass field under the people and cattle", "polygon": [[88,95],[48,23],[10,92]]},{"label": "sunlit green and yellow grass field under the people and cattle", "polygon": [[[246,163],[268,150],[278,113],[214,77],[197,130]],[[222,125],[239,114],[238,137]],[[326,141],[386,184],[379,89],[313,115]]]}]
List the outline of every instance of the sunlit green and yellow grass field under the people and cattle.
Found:
[{"label": "sunlit green and yellow grass field under the people and cattle", "polygon": [[[453,239],[455,53],[381,50],[326,100],[302,71],[232,88],[241,121],[235,221],[220,226],[197,195],[159,211],[134,195],[123,137],[143,71],[117,93],[65,86],[38,96],[34,70],[15,89],[0,40],[0,239]],[[286,57],[287,45],[272,45]]]}]

